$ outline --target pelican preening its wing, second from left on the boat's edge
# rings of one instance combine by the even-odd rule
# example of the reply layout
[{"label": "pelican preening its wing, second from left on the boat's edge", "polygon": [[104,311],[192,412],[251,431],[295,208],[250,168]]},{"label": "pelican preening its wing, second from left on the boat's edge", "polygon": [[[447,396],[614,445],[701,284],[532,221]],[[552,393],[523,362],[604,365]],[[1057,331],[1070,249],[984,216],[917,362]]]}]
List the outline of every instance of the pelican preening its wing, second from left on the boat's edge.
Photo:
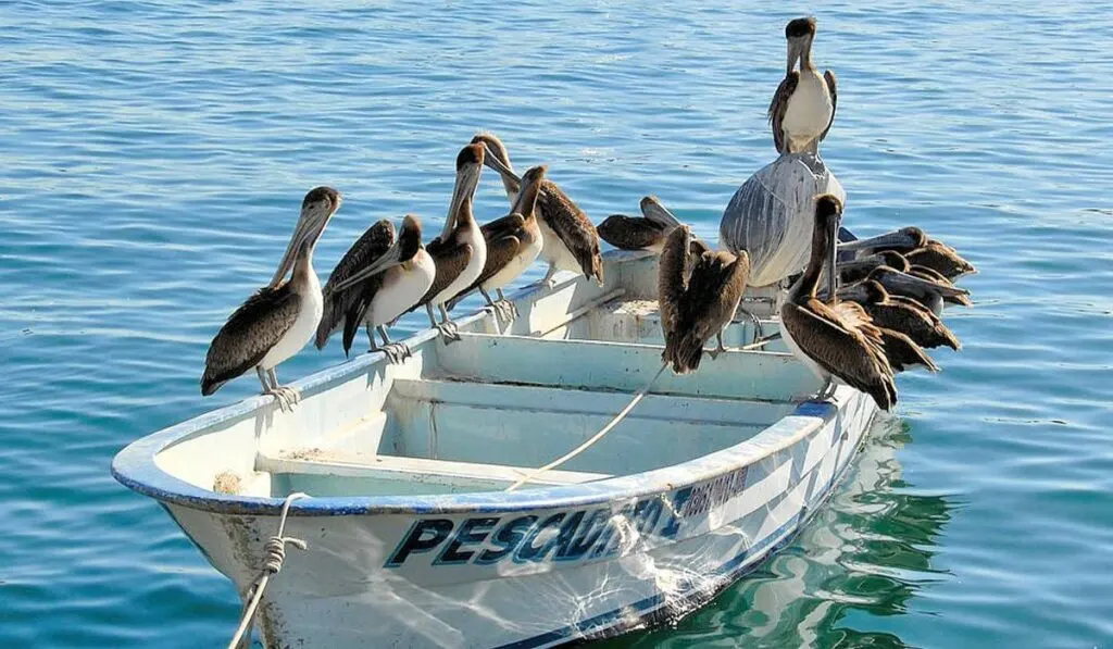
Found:
[{"label": "pelican preening its wing, second from left on the boat's edge", "polygon": [[367,327],[371,351],[375,345],[372,328],[383,337],[382,352],[392,363],[410,355],[401,343],[392,343],[386,326],[417,303],[433,285],[436,267],[421,243],[421,219],[413,214],[402,219],[402,233],[395,239],[394,226],[383,219],[367,228],[336,264],[325,285],[325,315],[317,327],[317,348],[328,336],[344,330],[344,354],[359,325]]}]

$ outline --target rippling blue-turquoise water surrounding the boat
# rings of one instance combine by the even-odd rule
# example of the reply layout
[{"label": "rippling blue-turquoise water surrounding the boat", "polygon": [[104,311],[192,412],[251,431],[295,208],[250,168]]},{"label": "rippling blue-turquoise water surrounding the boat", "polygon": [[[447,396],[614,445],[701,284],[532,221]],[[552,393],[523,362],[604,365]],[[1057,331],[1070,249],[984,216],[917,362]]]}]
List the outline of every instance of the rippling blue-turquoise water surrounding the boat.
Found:
[{"label": "rippling blue-turquoise water surrounding the boat", "polygon": [[[1113,645],[1097,3],[308,4],[0,7],[0,646],[227,641],[233,589],[109,462],[257,389],[197,382],[309,187],[346,195],[322,273],[375,219],[436,227],[483,128],[597,220],[654,193],[713,238],[772,158],[781,29],[809,9],[839,76],[824,154],[846,225],[917,224],[979,267],[976,306],[948,316],[966,348],[902,377],[900,421],[794,545],[676,628],[605,646]],[[504,212],[489,178],[477,214]]]}]

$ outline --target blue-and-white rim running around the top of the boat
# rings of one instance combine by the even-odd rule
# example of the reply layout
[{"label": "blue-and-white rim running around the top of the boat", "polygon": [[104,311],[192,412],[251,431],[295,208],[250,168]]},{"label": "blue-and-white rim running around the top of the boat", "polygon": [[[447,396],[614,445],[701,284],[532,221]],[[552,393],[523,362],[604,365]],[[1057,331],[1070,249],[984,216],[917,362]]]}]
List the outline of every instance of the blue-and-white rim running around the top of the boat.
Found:
[{"label": "blue-and-white rim running around the top of the boat", "polygon": [[[644,255],[615,255],[614,257],[618,260],[633,260],[642,256]],[[538,293],[556,292],[575,282],[575,277],[570,276],[567,281],[559,282],[549,289],[538,285],[525,286],[515,292],[511,298],[516,301],[531,295],[536,297]],[[493,315],[484,309],[459,318],[456,322],[460,326],[466,327],[487,317],[493,317]],[[416,332],[404,342],[412,350],[415,350],[420,345],[435,345],[439,335],[436,330],[427,328]],[[367,373],[384,361],[385,354],[382,352],[364,354],[295,381],[292,386],[299,390],[304,397],[314,396]],[[650,471],[615,475],[589,483],[552,485],[513,492],[313,496],[294,501],[290,503],[289,511],[290,515],[297,517],[467,514],[584,507],[644,498],[688,484],[713,480],[794,446],[838,416],[850,394],[850,389],[839,387],[834,403],[802,402],[790,414],[737,444],[686,462]],[[210,434],[206,431],[248,416],[265,415],[266,410],[274,407],[275,404],[270,396],[255,395],[140,437],[125,446],[114,458],[112,476],[128,489],[164,504],[183,505],[217,514],[278,515],[285,498],[217,493],[175,476],[159,468],[155,461],[156,455],[187,437]],[[795,426],[795,430],[786,431],[785,426]]]}]

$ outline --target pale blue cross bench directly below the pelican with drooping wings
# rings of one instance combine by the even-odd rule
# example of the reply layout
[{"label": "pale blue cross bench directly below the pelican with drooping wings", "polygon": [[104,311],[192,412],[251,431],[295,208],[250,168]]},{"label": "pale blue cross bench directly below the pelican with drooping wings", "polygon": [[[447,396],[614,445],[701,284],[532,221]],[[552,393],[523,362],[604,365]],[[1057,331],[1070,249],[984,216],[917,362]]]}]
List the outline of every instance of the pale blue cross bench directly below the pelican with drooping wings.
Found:
[{"label": "pale blue cross bench directly below the pelican with drooping wings", "polygon": [[[460,341],[437,352],[441,363],[434,377],[587,390],[634,392],[661,366],[658,346],[602,341],[461,334]],[[718,358],[705,358],[696,373],[677,376],[666,372],[652,392],[797,401],[818,389],[815,375],[791,354],[727,351]]]}]

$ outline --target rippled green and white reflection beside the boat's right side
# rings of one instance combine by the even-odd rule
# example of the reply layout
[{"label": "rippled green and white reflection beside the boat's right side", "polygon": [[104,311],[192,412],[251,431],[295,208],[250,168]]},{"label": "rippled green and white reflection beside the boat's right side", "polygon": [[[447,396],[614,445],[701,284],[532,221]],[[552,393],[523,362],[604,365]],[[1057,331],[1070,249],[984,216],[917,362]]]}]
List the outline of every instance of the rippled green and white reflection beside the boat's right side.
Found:
[{"label": "rippled green and white reflection beside the boat's right side", "polygon": [[[934,547],[954,507],[944,496],[908,493],[897,452],[909,441],[902,420],[875,420],[841,485],[792,544],[670,628],[670,640],[687,646],[690,635],[708,646],[729,639],[760,647],[906,647],[888,630],[864,628],[863,620],[907,612],[917,591],[939,579]],[[656,647],[657,639],[647,632],[593,647]]]}]

